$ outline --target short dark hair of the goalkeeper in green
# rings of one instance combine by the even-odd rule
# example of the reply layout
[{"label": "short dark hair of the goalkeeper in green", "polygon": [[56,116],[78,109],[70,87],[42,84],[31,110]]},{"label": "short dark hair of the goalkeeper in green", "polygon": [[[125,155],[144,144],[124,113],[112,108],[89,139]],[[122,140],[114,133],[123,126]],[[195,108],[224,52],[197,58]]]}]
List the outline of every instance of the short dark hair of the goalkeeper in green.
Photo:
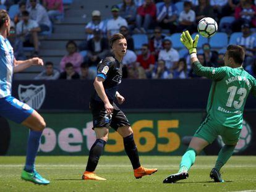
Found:
[{"label": "short dark hair of the goalkeeper in green", "polygon": [[244,62],[244,56],[245,56],[244,48],[242,48],[239,45],[230,44],[227,48],[227,54],[228,54],[228,57],[233,58],[234,62],[236,62],[237,64],[242,65],[242,62]]}]

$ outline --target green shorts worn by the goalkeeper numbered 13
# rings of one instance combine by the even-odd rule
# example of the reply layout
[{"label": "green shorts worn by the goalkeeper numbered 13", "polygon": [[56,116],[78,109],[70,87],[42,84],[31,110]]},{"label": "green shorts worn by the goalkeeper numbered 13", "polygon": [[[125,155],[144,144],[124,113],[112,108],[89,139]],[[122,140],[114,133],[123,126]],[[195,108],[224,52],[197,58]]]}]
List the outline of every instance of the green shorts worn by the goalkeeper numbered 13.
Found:
[{"label": "green shorts worn by the goalkeeper numbered 13", "polygon": [[220,125],[220,123],[217,123],[208,114],[194,136],[202,138],[211,144],[220,135],[224,144],[233,145],[238,142],[241,130],[240,128],[230,128]]}]

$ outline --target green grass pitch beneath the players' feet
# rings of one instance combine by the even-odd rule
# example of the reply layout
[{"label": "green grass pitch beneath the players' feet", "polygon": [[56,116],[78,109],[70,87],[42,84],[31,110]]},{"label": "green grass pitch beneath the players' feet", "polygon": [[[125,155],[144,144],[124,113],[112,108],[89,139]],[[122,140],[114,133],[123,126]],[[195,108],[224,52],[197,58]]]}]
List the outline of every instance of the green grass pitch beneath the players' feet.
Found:
[{"label": "green grass pitch beneath the players' feet", "polygon": [[256,157],[233,156],[221,170],[225,183],[214,183],[209,173],[216,156],[198,156],[189,178],[175,184],[163,184],[170,173],[176,173],[181,157],[141,156],[144,167],[158,172],[136,180],[126,156],[102,156],[96,169],[107,180],[81,180],[87,157],[38,156],[36,170],[49,179],[47,186],[35,185],[20,179],[25,161],[23,156],[0,157],[0,191],[256,191]]}]

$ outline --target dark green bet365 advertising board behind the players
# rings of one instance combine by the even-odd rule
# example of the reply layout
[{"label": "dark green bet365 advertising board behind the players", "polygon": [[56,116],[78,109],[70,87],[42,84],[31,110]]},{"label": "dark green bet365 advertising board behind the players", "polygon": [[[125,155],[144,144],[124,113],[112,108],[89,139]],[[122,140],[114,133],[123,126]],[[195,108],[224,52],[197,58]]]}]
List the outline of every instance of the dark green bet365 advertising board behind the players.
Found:
[{"label": "dark green bet365 advertising board behind the players", "polygon": [[[88,155],[95,141],[92,130],[92,116],[89,113],[45,113],[47,128],[41,137],[39,155]],[[182,155],[200,122],[203,112],[148,112],[127,113],[135,143],[140,155]],[[236,146],[236,154],[256,154],[254,130],[255,112],[247,112],[241,139]],[[28,130],[13,122],[1,120],[6,128],[0,136],[1,155],[25,155]],[[5,124],[4,124],[5,123]],[[2,128],[3,130],[3,128]],[[11,130],[11,131],[8,131]],[[202,154],[216,155],[222,146],[218,138]],[[109,129],[105,155],[124,155],[121,136]]]}]

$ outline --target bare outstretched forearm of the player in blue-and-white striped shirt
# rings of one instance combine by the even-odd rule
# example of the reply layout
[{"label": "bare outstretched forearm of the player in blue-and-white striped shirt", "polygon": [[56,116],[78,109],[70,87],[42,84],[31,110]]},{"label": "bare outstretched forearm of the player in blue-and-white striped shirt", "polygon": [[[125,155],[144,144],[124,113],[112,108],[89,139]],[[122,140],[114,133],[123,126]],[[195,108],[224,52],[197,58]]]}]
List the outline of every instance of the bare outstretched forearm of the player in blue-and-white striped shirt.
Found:
[{"label": "bare outstretched forearm of the player in blue-and-white striped shirt", "polygon": [[43,60],[38,57],[33,57],[25,61],[17,61],[14,59],[14,73],[21,72],[32,65],[43,66]]}]

